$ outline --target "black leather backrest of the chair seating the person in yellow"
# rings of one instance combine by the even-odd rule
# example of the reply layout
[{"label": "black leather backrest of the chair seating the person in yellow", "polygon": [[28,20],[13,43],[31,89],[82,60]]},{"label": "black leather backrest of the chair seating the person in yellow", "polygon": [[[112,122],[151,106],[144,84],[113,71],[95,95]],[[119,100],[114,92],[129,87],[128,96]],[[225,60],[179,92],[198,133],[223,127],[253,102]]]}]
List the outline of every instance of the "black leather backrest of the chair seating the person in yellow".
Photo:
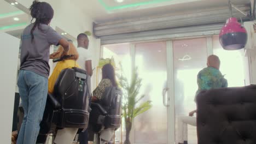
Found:
[{"label": "black leather backrest of the chair seating the person in yellow", "polygon": [[87,75],[82,69],[61,71],[54,86],[53,120],[59,128],[87,128],[89,122],[89,91]]}]

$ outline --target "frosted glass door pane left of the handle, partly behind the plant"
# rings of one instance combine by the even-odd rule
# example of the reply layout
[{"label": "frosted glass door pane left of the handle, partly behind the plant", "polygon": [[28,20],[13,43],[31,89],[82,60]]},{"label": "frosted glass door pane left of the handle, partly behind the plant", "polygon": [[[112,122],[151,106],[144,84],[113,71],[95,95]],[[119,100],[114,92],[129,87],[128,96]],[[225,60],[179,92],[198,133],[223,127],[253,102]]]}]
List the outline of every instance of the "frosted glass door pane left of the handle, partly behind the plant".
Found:
[{"label": "frosted glass door pane left of the handle, partly behind the plant", "polygon": [[153,107],[135,118],[134,143],[167,143],[167,108],[162,102],[162,89],[167,80],[166,42],[135,45],[135,65],[142,79],[140,94],[151,100]]}]

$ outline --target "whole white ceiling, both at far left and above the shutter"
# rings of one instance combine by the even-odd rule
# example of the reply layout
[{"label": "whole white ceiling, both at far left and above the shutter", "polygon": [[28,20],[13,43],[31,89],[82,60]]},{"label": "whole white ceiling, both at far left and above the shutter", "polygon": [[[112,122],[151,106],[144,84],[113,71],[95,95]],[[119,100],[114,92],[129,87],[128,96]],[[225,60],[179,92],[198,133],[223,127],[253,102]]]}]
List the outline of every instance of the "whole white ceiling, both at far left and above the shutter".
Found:
[{"label": "whole white ceiling, both at far left and above the shutter", "polygon": [[[43,1],[43,0],[42,0]],[[59,0],[63,1],[63,0]],[[117,3],[115,0],[101,0],[110,7],[117,7],[124,4],[145,2],[149,0],[124,0],[124,3]],[[210,9],[214,7],[228,8],[228,0],[172,0],[156,4],[141,5],[137,7],[124,8],[119,10],[106,10],[99,0],[75,0],[72,1],[76,7],[85,15],[89,15],[97,23],[111,22],[116,20],[139,19],[141,17],[177,14],[177,13],[193,13],[194,10]],[[233,4],[248,4],[250,0],[232,0]],[[13,5],[0,1],[0,14],[12,13],[19,11]],[[20,21],[14,21],[14,17],[19,17]],[[0,27],[14,25],[16,23],[28,22],[27,14],[10,15],[0,17]],[[20,29],[20,28],[18,28]],[[13,30],[13,29],[11,29]],[[19,30],[18,30],[19,32]]]}]

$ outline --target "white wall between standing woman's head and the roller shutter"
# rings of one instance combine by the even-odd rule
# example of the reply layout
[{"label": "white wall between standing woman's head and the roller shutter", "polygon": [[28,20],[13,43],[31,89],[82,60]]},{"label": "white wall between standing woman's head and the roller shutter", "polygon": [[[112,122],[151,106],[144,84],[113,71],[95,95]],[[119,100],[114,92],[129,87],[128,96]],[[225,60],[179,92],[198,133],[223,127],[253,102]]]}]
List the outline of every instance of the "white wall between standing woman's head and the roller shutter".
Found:
[{"label": "white wall between standing woman's head and the roller shutter", "polygon": [[[18,0],[18,2],[29,8],[33,0]],[[41,2],[43,2],[43,0]],[[45,0],[45,2],[50,3],[54,9],[54,18],[50,23],[51,27],[60,27],[75,38],[79,33],[85,31],[92,32],[93,20],[75,5],[74,0]],[[92,67],[94,68],[98,64],[98,59],[100,58],[100,39],[90,36],[89,40],[89,50],[94,55],[94,58],[92,59]],[[92,89],[95,87],[96,71],[94,71],[94,75],[92,76]]]}]

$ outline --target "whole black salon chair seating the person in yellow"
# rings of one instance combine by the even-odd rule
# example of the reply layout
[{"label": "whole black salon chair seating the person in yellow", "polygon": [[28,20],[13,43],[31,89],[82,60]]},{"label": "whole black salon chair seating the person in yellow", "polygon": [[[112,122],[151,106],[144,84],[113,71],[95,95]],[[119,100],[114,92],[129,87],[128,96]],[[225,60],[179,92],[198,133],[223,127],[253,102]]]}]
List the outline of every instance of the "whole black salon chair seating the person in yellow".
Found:
[{"label": "whole black salon chair seating the person in yellow", "polygon": [[48,94],[37,143],[45,143],[48,134],[55,135],[58,129],[88,127],[88,90],[86,71],[79,68],[61,71],[53,94]]}]

